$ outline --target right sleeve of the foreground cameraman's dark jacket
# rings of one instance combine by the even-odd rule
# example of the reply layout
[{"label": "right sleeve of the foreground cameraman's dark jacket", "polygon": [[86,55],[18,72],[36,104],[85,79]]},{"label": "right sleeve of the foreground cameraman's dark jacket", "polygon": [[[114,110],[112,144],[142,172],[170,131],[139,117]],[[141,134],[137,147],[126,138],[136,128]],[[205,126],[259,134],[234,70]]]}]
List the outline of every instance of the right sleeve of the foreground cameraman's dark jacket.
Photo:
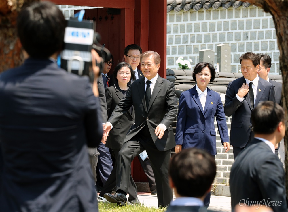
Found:
[{"label": "right sleeve of the foreground cameraman's dark jacket", "polygon": [[86,86],[86,114],[84,117],[88,147],[97,147],[100,143],[103,127],[99,98],[95,97],[90,83]]}]

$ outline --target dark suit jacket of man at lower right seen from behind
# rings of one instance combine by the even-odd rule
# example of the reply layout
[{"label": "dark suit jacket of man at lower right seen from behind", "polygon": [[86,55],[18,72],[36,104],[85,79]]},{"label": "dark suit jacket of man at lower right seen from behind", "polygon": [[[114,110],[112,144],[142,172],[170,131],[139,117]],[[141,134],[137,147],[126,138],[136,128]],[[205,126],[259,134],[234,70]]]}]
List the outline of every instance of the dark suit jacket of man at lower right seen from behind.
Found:
[{"label": "dark suit jacket of man at lower right seen from behind", "polygon": [[241,205],[246,201],[264,205],[266,202],[275,212],[287,211],[283,164],[259,139],[253,139],[237,156],[229,183],[232,211],[240,201]]}]

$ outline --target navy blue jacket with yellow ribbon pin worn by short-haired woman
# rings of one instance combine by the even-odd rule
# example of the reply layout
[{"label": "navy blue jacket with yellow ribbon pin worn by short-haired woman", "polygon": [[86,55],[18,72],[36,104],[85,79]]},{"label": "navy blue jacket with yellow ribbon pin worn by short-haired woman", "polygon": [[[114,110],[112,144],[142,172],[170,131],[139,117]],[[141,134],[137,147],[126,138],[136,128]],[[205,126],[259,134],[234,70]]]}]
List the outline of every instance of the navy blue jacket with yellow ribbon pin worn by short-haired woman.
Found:
[{"label": "navy blue jacket with yellow ribbon pin worn by short-haired woman", "polygon": [[229,142],[226,118],[220,95],[207,88],[203,110],[196,86],[181,93],[176,128],[176,144],[182,149],[197,147],[216,155],[216,117],[221,142]]}]

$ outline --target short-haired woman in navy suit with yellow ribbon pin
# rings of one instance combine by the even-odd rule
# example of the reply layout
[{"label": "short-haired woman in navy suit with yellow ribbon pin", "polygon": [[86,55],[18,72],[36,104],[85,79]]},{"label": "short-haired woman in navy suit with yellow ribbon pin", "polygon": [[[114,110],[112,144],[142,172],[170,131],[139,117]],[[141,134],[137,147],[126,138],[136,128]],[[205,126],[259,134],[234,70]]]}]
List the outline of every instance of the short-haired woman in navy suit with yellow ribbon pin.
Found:
[{"label": "short-haired woman in navy suit with yellow ribbon pin", "polygon": [[[214,116],[221,142],[226,148],[226,152],[230,149],[226,118],[220,95],[207,88],[209,82],[213,82],[215,78],[215,69],[210,63],[198,63],[194,68],[192,77],[197,85],[183,92],[179,99],[175,152],[179,153],[182,148],[197,147],[205,149],[215,157],[217,152]],[[205,206],[209,206],[209,194],[204,200]]]}]

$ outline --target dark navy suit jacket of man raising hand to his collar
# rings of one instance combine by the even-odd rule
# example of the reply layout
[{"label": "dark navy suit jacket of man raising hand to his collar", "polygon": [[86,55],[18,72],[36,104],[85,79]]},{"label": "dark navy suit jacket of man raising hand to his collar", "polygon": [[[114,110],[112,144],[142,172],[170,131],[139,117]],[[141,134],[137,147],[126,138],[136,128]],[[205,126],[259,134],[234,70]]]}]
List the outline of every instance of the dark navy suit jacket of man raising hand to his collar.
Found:
[{"label": "dark navy suit jacket of man raising hand to his collar", "polygon": [[[240,102],[236,97],[236,94],[243,83],[246,83],[244,77],[229,82],[224,104],[225,115],[232,115],[230,130],[231,145],[240,148],[245,147],[248,143],[252,128],[252,107],[249,93],[244,96],[242,102]],[[267,100],[275,102],[274,86],[270,82],[259,77],[254,108],[259,102]]]}]

